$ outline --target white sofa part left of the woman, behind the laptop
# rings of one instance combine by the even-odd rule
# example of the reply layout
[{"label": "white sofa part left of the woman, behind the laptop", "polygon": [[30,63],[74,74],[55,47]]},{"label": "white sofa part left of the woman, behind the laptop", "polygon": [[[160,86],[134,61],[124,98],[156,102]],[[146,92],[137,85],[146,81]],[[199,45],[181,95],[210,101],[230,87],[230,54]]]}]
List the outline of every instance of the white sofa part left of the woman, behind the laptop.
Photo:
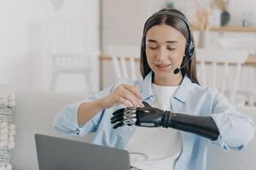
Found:
[{"label": "white sofa part left of the woman, behind the laptop", "polygon": [[[37,170],[38,158],[34,134],[43,133],[60,137],[55,133],[53,126],[56,113],[62,106],[83,99],[83,96],[17,90],[15,98],[16,136],[11,164],[17,170]],[[90,135],[68,137],[68,139],[89,142]]]}]

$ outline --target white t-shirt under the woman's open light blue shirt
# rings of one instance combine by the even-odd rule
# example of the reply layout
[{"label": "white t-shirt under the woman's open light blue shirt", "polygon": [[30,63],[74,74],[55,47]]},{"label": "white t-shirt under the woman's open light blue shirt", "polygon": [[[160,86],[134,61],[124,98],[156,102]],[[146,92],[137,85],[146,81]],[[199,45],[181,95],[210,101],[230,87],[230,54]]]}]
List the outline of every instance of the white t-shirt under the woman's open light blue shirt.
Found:
[{"label": "white t-shirt under the woman's open light blue shirt", "polygon": [[[152,106],[170,111],[172,94],[178,86],[165,87],[152,83]],[[125,150],[130,153],[132,167],[143,170],[173,170],[182,150],[180,133],[165,127],[137,127]]]}]

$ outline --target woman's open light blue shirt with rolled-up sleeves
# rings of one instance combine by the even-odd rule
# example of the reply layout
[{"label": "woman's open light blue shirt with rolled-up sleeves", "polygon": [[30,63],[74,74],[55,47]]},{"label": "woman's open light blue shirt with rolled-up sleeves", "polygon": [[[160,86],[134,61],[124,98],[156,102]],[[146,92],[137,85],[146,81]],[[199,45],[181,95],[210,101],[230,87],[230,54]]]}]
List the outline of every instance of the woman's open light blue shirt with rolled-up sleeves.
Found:
[{"label": "woman's open light blue shirt with rolled-up sleeves", "polygon": [[[141,81],[121,80],[98,94],[67,105],[55,117],[55,130],[63,135],[82,136],[87,133],[95,133],[94,144],[124,149],[136,126],[113,129],[113,125],[110,123],[113,111],[124,108],[124,105],[100,111],[81,127],[79,127],[77,118],[79,105],[108,95],[122,83],[137,84],[143,95],[143,101],[148,102],[149,105],[153,103],[152,72],[150,72]],[[209,144],[219,144],[224,150],[241,150],[253,139],[255,131],[253,121],[236,111],[236,108],[230,105],[228,100],[215,88],[202,88],[185,76],[169,102],[171,102],[170,111],[175,113],[212,116],[220,133],[217,140],[211,141],[194,133],[181,131],[183,150],[177,159],[176,170],[205,170]]]}]

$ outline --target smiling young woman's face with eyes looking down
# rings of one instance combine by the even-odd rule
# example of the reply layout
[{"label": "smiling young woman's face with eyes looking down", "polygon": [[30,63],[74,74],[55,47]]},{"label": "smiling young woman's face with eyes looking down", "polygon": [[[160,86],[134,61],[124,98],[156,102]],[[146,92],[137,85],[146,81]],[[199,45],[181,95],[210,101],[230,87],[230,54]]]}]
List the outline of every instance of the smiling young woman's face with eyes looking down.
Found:
[{"label": "smiling young woman's face with eyes looking down", "polygon": [[154,76],[170,77],[180,67],[185,48],[186,38],[172,26],[150,28],[146,35],[146,55]]}]

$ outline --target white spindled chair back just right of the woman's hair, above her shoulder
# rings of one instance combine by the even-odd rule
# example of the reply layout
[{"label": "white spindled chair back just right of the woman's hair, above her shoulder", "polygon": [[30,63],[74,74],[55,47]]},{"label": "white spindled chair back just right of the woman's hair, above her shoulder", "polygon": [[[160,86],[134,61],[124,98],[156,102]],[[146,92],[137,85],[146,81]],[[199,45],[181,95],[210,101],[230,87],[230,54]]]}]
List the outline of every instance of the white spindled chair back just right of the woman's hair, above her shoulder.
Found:
[{"label": "white spindled chair back just right of the woman's hair, above her shoulder", "polygon": [[[228,97],[230,102],[234,103],[241,73],[241,65],[245,63],[248,55],[247,51],[212,48],[196,49],[196,60],[200,64],[198,76],[201,85],[218,88],[223,94],[229,90],[230,94]],[[209,66],[206,66],[206,64]],[[234,81],[231,82],[231,80]],[[228,85],[232,86],[228,87]]]}]

